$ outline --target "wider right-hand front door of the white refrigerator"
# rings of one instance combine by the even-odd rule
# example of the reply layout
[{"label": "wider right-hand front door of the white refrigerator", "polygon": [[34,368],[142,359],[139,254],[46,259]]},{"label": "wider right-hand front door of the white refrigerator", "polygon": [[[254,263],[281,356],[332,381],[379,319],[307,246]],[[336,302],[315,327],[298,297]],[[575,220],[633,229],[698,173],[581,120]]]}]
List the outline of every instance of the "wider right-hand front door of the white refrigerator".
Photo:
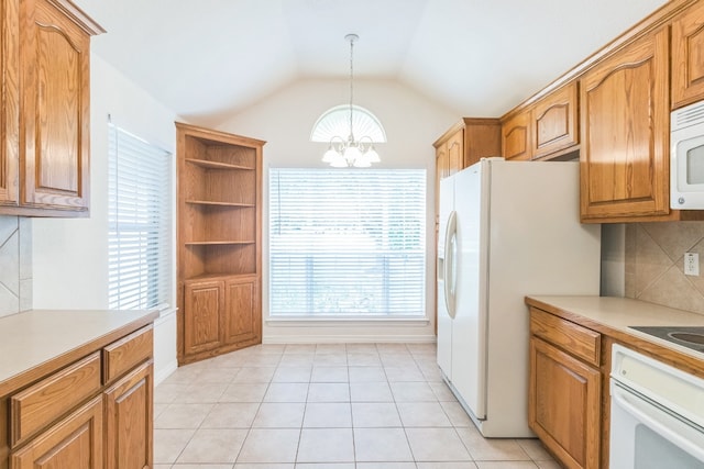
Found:
[{"label": "wider right-hand front door of the white refrigerator", "polygon": [[[485,163],[455,175],[457,313],[452,324],[452,383],[476,418],[486,417]],[[486,176],[485,176],[486,177]]]}]

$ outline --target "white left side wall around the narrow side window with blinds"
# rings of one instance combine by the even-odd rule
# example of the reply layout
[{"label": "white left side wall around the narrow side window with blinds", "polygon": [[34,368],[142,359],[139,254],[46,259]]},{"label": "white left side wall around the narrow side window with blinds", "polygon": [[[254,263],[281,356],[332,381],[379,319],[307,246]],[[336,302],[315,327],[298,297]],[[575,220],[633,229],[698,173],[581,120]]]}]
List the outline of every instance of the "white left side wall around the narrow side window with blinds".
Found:
[{"label": "white left side wall around the narrow side window with blinds", "polygon": [[[96,54],[90,74],[90,217],[34,219],[34,309],[108,308],[108,114],[116,124],[175,156],[177,118],[172,110]],[[175,298],[174,289],[174,306]],[[157,378],[176,367],[175,321],[172,313],[155,324]]]}]

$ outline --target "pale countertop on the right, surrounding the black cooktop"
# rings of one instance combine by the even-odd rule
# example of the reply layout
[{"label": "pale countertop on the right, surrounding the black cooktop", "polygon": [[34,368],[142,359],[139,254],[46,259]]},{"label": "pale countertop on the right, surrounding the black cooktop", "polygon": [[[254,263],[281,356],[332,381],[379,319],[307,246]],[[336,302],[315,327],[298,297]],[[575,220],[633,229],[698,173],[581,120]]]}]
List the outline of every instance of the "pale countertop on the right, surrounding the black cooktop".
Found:
[{"label": "pale countertop on the right, surrounding the black cooktop", "polygon": [[[549,310],[580,317],[580,323],[597,332],[625,334],[704,360],[704,354],[654,337],[629,326],[704,326],[704,315],[654,303],[613,297],[528,295],[529,304],[543,303]],[[560,311],[556,311],[560,310]]]}]

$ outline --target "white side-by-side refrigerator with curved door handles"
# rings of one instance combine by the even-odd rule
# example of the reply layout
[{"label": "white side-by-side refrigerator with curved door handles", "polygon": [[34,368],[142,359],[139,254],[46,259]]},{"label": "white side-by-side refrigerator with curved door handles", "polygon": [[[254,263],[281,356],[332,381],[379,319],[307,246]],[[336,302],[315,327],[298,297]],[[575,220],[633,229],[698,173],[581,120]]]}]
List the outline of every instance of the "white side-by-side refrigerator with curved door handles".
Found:
[{"label": "white side-by-side refrigerator with curved door handles", "polygon": [[438,365],[486,437],[528,428],[527,294],[600,294],[578,161],[485,158],[440,181]]}]

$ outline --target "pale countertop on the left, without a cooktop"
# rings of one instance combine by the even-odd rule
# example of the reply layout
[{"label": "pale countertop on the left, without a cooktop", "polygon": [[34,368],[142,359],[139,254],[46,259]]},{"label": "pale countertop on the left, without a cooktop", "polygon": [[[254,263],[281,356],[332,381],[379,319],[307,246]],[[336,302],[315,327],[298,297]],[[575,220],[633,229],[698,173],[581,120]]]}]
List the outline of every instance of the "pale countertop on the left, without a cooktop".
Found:
[{"label": "pale countertop on the left, without a cooktop", "polygon": [[100,340],[131,324],[148,324],[154,311],[31,310],[0,317],[0,395],[10,379]]}]

